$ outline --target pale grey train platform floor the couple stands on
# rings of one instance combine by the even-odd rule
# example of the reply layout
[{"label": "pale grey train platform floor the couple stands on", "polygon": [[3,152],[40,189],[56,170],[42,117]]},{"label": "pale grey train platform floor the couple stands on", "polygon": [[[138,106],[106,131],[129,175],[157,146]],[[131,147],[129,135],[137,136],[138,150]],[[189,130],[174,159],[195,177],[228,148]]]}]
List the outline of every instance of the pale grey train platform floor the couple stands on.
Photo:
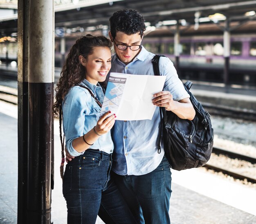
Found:
[{"label": "pale grey train platform floor the couple stands on", "polygon": [[[0,101],[0,224],[17,223],[17,105]],[[55,122],[58,127],[58,121]],[[52,222],[66,223],[59,164],[61,146],[54,128],[54,190]],[[256,189],[229,181],[204,168],[172,171],[169,214],[173,224],[256,224]],[[98,218],[97,224],[103,222]]]}]

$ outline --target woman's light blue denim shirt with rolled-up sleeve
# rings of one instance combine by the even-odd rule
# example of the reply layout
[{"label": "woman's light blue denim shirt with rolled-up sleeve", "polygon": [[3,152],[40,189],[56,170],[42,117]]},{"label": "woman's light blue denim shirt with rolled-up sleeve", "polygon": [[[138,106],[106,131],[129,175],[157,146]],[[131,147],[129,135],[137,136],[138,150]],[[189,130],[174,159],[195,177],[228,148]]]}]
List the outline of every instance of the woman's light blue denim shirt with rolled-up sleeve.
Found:
[{"label": "woman's light blue denim shirt with rolled-up sleeve", "polygon": [[[92,90],[94,96],[102,103],[104,93],[101,86],[93,85],[84,79],[79,85],[84,85]],[[99,120],[101,108],[92,98],[88,90],[80,86],[70,88],[62,103],[63,112],[63,132],[66,138],[67,151],[72,156],[82,155],[83,152],[77,152],[72,142],[74,139],[83,136],[89,132]],[[94,142],[91,149],[99,149],[107,153],[112,153],[114,145],[111,139],[110,132],[103,134],[97,141]]]}]

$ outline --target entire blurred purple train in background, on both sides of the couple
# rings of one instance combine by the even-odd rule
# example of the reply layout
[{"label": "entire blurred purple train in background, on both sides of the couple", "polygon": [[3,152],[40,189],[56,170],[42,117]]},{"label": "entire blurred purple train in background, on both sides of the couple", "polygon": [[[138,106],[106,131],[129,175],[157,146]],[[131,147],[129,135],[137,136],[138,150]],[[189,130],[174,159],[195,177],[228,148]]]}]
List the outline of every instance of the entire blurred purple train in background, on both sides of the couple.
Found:
[{"label": "entire blurred purple train in background, on both sides of the couple", "polygon": [[[61,38],[55,37],[55,67],[62,67],[70,47],[83,33],[65,37],[65,54],[61,54]],[[254,32],[231,34],[229,83],[256,86],[256,35]],[[146,34],[142,45],[154,54],[167,56],[175,64],[174,35],[154,31]],[[17,41],[0,43],[0,61],[17,62]],[[8,55],[7,55],[8,52]],[[189,33],[180,35],[179,76],[181,79],[223,82],[223,34]],[[15,63],[13,63],[15,65]]]}]

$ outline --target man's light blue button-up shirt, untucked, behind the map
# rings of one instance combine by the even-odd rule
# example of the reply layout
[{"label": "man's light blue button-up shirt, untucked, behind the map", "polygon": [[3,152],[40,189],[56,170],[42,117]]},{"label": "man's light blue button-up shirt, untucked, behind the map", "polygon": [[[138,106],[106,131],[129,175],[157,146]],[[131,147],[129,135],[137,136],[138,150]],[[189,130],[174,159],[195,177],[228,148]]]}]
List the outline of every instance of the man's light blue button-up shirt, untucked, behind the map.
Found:
[{"label": "man's light blue button-up shirt, untucked, behind the map", "polygon": [[[154,75],[151,62],[153,56],[155,54],[142,47],[134,60],[125,65],[114,54],[110,72]],[[160,58],[159,71],[161,75],[166,76],[164,90],[170,91],[175,101],[189,97],[169,58]],[[155,170],[164,157],[163,141],[161,153],[157,153],[159,125],[159,107],[156,108],[152,120],[115,121],[112,129],[115,145],[112,170],[119,175],[144,175]]]}]

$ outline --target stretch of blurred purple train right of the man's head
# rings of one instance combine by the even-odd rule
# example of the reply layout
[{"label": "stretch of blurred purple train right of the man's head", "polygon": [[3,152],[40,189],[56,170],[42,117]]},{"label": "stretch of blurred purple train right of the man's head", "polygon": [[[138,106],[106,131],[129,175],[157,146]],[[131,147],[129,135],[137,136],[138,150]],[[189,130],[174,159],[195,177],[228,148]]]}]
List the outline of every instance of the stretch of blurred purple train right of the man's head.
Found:
[{"label": "stretch of blurred purple train right of the man's head", "polygon": [[[230,38],[229,83],[256,85],[256,36],[234,34]],[[147,37],[144,47],[162,54],[175,63],[174,38]],[[181,36],[179,76],[182,79],[223,82],[225,58],[223,35]]]}]

